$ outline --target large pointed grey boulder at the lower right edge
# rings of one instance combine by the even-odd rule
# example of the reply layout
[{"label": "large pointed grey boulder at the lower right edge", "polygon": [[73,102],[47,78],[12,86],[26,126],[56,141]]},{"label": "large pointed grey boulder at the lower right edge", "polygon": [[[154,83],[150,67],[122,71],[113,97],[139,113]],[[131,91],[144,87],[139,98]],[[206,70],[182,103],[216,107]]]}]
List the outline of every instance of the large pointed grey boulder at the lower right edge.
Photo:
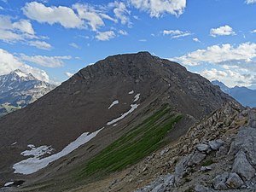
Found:
[{"label": "large pointed grey boulder at the lower right edge", "polygon": [[236,154],[232,172],[236,172],[244,181],[250,180],[255,174],[255,169],[248,162],[247,156],[242,150]]}]

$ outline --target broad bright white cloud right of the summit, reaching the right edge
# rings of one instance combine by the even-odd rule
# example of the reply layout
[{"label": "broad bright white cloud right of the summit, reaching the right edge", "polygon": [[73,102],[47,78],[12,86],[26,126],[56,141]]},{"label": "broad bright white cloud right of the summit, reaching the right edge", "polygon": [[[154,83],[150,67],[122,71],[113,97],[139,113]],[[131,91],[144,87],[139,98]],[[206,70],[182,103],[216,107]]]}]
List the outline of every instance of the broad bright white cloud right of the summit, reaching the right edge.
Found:
[{"label": "broad bright white cloud right of the summit, reaching the right edge", "polygon": [[244,43],[237,47],[230,44],[212,45],[207,49],[198,49],[189,54],[172,58],[171,60],[183,63],[183,65],[196,66],[203,63],[215,64],[239,64],[251,61],[256,57],[256,44]]}]

